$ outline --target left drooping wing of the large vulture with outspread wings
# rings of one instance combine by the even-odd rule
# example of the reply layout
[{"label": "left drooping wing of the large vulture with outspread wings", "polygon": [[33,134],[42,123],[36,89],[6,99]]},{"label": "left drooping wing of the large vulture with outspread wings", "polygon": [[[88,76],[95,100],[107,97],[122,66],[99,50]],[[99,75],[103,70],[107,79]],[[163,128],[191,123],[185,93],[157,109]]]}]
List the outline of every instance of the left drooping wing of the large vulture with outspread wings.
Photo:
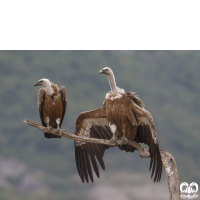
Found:
[{"label": "left drooping wing of the large vulture with outspread wings", "polygon": [[[81,113],[76,121],[75,134],[83,137],[109,140],[112,137],[112,133],[105,117],[104,107]],[[99,178],[100,174],[96,159],[102,169],[105,170],[103,156],[109,146],[79,141],[75,141],[74,146],[76,166],[82,182],[84,183],[86,180],[88,183],[89,179],[93,182],[92,167]]]}]

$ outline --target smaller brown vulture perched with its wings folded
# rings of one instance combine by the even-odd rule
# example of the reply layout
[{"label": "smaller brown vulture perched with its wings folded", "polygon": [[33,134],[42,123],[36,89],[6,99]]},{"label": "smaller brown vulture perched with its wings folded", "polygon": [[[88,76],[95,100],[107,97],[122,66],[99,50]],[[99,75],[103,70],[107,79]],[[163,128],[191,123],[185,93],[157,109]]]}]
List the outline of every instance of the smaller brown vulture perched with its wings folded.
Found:
[{"label": "smaller brown vulture perched with its wings folded", "polygon": [[[38,91],[38,110],[42,125],[48,129],[57,128],[59,132],[67,108],[67,90],[64,86],[60,89],[48,79],[43,78],[34,83],[42,86]],[[45,138],[61,138],[50,133],[44,133]]]}]

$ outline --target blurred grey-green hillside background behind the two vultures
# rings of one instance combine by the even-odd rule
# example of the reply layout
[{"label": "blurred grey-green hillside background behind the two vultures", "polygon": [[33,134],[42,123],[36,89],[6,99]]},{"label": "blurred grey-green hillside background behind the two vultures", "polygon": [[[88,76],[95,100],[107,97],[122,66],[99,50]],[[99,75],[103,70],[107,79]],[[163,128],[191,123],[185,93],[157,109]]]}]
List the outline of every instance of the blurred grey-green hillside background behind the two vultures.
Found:
[{"label": "blurred grey-green hillside background behind the two vultures", "polygon": [[[200,184],[200,51],[0,51],[0,199],[168,199],[163,172],[150,179],[149,159],[118,148],[105,152],[106,171],[82,183],[73,140],[45,139],[22,121],[40,123],[34,82],[48,78],[68,92],[62,129],[74,133],[78,114],[102,106],[117,86],[133,91],[154,118],[160,149],[177,163],[179,182]],[[164,171],[164,169],[163,169]]]}]

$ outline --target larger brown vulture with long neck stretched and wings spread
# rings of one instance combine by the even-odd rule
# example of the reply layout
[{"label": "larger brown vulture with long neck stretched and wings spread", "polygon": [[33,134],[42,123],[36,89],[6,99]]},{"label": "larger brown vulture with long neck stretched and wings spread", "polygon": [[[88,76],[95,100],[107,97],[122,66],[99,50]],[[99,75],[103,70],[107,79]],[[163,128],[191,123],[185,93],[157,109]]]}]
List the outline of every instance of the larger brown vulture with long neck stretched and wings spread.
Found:
[{"label": "larger brown vulture with long neck stretched and wings spread", "polygon": [[[105,74],[108,77],[111,91],[105,95],[101,108],[79,114],[75,134],[88,138],[107,139],[110,143],[121,138],[122,143],[119,149],[126,152],[134,152],[135,148],[124,145],[124,140],[133,140],[148,145],[151,178],[154,176],[154,183],[159,182],[162,174],[162,161],[152,115],[145,110],[144,104],[135,93],[125,93],[123,89],[116,86],[115,77],[110,68],[103,68],[99,74]],[[93,182],[92,167],[99,178],[97,160],[105,170],[103,156],[110,145],[75,141],[74,147],[77,171],[82,182],[88,183],[89,179]]]}]

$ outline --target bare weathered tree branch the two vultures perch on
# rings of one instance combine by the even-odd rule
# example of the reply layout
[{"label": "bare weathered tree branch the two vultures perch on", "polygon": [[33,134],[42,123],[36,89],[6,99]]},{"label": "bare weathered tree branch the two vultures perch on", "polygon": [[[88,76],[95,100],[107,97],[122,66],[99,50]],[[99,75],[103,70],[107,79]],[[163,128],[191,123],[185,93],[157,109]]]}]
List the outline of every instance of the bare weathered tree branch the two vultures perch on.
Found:
[{"label": "bare weathered tree branch the two vultures perch on", "polygon": [[[57,132],[56,129],[51,128],[50,130],[47,127],[41,126],[35,122],[32,122],[30,120],[24,120],[24,123],[28,124],[29,126],[35,127],[40,129],[43,132],[50,133],[53,135],[61,136],[76,140],[76,141],[82,141],[82,142],[89,142],[89,143],[97,143],[97,144],[104,144],[104,145],[110,145],[109,140],[105,139],[97,139],[97,138],[87,138],[87,137],[81,137],[77,136],[75,134],[68,133],[64,130],[60,130],[59,133]],[[117,142],[112,141],[111,146],[119,146],[121,144],[121,140],[117,140]],[[135,141],[124,141],[123,144],[128,144],[133,147],[140,153],[141,158],[150,158],[149,150],[143,148],[140,144],[138,144]],[[167,178],[167,183],[168,183],[168,189],[169,189],[169,199],[170,200],[181,200],[182,198],[180,197],[180,188],[179,188],[179,180],[178,180],[178,171],[176,167],[176,162],[173,156],[166,152],[166,151],[160,151],[161,153],[161,158],[162,158],[162,164],[165,168],[165,174]]]}]

